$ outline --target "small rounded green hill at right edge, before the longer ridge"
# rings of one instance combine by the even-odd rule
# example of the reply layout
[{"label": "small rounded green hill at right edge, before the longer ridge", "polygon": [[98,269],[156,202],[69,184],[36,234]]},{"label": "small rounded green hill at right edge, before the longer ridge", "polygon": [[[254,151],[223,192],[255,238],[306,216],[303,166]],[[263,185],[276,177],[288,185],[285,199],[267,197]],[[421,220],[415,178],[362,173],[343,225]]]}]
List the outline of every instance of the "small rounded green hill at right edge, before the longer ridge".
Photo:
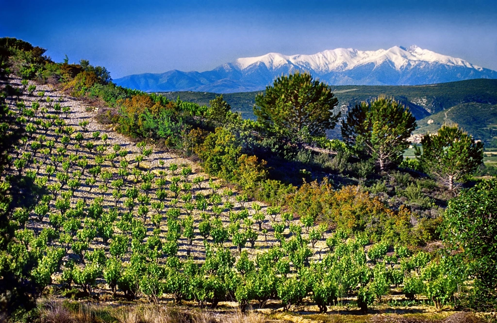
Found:
[{"label": "small rounded green hill at right edge, before the longer ridge", "polygon": [[417,121],[415,134],[436,133],[444,123],[457,123],[475,139],[489,142],[497,137],[497,105],[462,103]]}]

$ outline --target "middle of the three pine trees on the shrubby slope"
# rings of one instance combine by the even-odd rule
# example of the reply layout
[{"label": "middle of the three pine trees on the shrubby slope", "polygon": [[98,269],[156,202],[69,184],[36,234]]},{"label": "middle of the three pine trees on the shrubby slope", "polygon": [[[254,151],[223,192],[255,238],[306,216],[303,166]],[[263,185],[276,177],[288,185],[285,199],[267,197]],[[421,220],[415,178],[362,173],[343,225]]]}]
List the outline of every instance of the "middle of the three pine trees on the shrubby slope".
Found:
[{"label": "middle of the three pine trees on the shrubby slope", "polygon": [[383,171],[401,161],[415,127],[409,108],[391,98],[378,97],[352,108],[342,120],[341,133],[349,148],[364,159],[373,159]]}]

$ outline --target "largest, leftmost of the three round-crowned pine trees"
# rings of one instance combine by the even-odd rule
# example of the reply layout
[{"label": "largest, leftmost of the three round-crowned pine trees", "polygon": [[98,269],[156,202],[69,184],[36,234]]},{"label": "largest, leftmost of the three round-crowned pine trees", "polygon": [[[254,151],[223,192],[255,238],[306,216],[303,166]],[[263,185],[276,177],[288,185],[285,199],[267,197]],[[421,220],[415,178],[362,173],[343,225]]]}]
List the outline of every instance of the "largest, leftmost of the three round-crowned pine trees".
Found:
[{"label": "largest, leftmost of the three round-crowned pine trees", "polygon": [[253,112],[264,132],[302,144],[334,128],[340,116],[333,114],[337,104],[327,84],[297,71],[266,86],[265,93],[255,97]]}]

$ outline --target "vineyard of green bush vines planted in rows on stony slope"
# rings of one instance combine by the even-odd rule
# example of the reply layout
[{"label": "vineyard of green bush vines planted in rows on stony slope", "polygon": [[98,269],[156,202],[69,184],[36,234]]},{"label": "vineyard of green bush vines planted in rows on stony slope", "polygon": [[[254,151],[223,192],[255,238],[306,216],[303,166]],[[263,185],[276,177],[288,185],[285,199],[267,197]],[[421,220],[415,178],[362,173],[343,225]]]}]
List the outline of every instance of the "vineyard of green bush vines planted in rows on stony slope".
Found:
[{"label": "vineyard of green bush vines planted in rows on stony slope", "polygon": [[[201,308],[236,301],[243,310],[270,300],[289,310],[305,300],[317,312],[349,303],[365,312],[425,290],[441,308],[457,290],[458,277],[426,252],[389,252],[385,243],[365,251],[365,236],[249,202],[187,160],[103,130],[83,104],[48,86],[30,83],[7,102],[27,137],[2,176],[33,182],[22,197],[33,206],[14,211],[18,252],[56,294]],[[390,291],[399,297],[386,301]]]}]

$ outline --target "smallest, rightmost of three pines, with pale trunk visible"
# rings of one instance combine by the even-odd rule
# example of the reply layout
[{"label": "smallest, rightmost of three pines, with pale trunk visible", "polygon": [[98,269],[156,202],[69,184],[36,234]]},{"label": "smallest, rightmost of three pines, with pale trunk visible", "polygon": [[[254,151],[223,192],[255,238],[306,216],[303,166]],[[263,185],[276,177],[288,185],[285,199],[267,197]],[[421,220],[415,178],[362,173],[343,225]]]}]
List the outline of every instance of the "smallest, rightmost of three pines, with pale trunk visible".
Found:
[{"label": "smallest, rightmost of three pines, with pale trunk visible", "polygon": [[454,189],[454,182],[474,172],[483,161],[483,144],[459,129],[443,125],[434,136],[425,135],[416,157],[432,176]]}]

